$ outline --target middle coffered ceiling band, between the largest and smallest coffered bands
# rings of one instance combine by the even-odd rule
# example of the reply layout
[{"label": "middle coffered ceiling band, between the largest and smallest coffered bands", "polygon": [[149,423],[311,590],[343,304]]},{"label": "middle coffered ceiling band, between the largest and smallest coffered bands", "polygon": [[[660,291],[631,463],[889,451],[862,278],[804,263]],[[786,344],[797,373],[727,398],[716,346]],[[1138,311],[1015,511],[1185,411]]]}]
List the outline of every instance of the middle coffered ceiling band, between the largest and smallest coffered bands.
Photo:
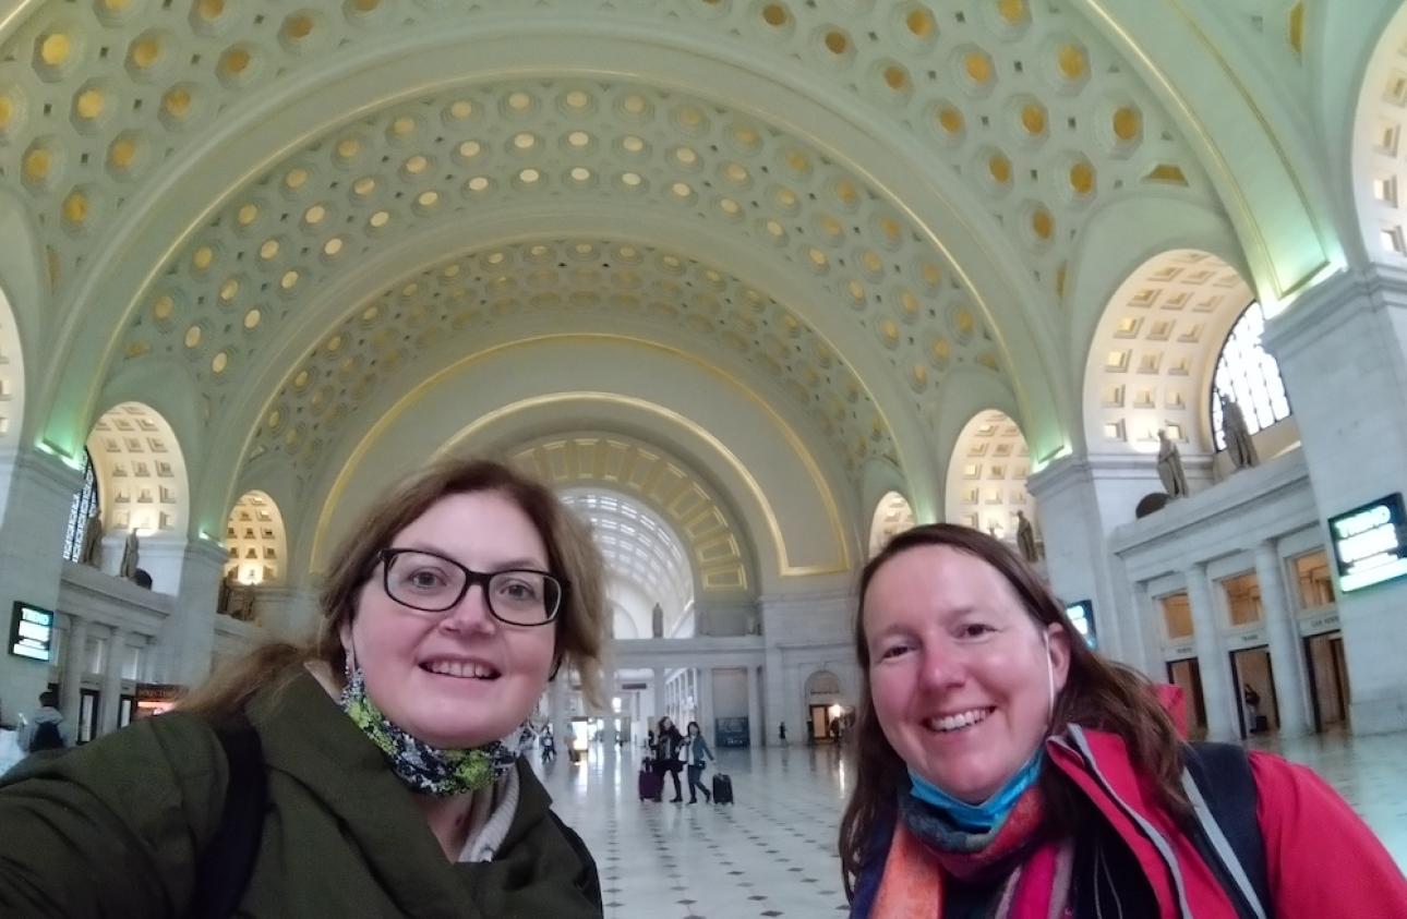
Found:
[{"label": "middle coffered ceiling band, between the largest and smallest coffered bands", "polygon": [[[515,107],[525,114],[501,115]],[[753,241],[846,304],[916,397],[953,363],[1003,363],[943,255],[810,145],[698,99],[580,82],[395,106],[279,163],[172,256],[129,319],[124,359],[186,355],[218,384],[356,259],[425,225],[540,198],[629,200]],[[508,277],[494,298],[522,283],[478,269]]]}]

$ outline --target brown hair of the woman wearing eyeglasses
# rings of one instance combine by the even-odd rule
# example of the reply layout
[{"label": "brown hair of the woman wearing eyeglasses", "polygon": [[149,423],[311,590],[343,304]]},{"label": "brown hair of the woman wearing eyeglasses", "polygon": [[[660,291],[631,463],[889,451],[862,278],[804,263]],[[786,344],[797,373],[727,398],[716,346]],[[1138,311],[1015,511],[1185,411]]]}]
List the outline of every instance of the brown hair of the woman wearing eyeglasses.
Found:
[{"label": "brown hair of the woman wearing eyeglasses", "polygon": [[[321,661],[335,677],[346,664],[340,630],[356,616],[357,594],[376,571],[377,553],[433,504],[453,494],[492,491],[512,501],[532,521],[547,549],[547,567],[567,581],[563,609],[553,623],[553,671],[567,667],[581,680],[581,692],[601,704],[601,643],[606,628],[605,581],[601,553],[575,515],[546,486],[512,469],[481,459],[442,459],[381,495],[352,528],[322,587],[322,622],[304,645],[274,642],[222,667],[180,708],[224,721],[241,712],[259,690],[280,676],[297,673],[293,664]],[[561,678],[567,678],[561,676]]]}]

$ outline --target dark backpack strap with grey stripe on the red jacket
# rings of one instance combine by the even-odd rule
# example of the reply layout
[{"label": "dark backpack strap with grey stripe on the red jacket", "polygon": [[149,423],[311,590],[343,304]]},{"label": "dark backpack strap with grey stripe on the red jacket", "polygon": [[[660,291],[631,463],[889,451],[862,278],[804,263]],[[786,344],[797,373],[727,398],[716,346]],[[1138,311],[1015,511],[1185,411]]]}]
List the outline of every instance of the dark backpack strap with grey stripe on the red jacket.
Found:
[{"label": "dark backpack strap with grey stripe on the red jacket", "polygon": [[1273,916],[1265,839],[1256,819],[1259,795],[1245,750],[1233,743],[1192,743],[1183,753],[1192,842],[1241,919]]}]

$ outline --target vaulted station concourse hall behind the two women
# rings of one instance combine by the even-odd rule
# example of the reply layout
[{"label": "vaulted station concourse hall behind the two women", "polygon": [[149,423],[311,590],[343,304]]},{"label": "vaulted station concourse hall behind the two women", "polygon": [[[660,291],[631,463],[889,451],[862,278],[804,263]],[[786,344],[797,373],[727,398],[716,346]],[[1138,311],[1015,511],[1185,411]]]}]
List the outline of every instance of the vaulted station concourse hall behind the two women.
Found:
[{"label": "vaulted station concourse hall behind the two women", "polygon": [[[477,456],[605,562],[518,750],[608,918],[850,909],[858,574],[937,522],[1407,867],[1407,4],[0,7],[0,773]],[[642,798],[666,716],[732,804]]]}]

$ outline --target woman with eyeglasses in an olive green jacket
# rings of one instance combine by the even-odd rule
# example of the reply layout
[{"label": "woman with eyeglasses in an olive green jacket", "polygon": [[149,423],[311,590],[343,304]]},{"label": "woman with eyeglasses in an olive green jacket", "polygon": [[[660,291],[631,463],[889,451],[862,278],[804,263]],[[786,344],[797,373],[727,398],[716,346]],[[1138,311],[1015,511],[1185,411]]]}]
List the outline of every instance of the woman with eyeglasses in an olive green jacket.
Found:
[{"label": "woman with eyeglasses in an olive green jacket", "polygon": [[314,640],[0,782],[0,915],[601,916],[516,739],[561,667],[599,695],[604,635],[547,488],[431,466],[353,529]]}]

